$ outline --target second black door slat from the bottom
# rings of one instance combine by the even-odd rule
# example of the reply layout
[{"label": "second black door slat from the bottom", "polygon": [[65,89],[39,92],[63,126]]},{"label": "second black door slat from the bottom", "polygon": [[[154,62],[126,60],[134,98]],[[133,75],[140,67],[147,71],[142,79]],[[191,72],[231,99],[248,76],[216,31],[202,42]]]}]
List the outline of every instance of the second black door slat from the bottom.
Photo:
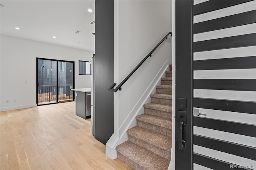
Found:
[{"label": "second black door slat from the bottom", "polygon": [[236,144],[233,142],[209,138],[196,134],[193,136],[193,140],[194,144],[198,146],[226,152],[228,154],[241,156],[243,158],[248,158],[251,160],[256,160],[256,148],[252,146]]}]

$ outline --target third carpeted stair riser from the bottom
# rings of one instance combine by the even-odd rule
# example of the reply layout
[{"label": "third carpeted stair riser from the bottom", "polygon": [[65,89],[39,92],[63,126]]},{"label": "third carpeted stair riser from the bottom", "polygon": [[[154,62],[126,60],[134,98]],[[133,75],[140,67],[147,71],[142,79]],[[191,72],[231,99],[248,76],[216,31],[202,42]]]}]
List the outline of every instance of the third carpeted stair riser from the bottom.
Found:
[{"label": "third carpeted stair riser from the bottom", "polygon": [[160,126],[157,126],[157,125],[152,125],[150,123],[146,123],[146,122],[138,121],[138,120],[137,120],[137,126],[142,127],[142,128],[146,128],[148,130],[152,130],[153,132],[164,134],[166,136],[170,136],[170,137],[172,136],[172,129],[160,127]]}]

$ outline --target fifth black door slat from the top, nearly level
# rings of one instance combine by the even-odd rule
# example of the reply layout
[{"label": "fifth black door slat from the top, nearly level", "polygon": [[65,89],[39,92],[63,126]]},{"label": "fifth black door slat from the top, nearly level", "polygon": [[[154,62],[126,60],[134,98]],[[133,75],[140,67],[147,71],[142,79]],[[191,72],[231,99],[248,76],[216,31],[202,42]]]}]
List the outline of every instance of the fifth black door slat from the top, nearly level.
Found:
[{"label": "fifth black door slat from the top, nearly level", "polygon": [[194,89],[256,91],[256,79],[194,79]]}]

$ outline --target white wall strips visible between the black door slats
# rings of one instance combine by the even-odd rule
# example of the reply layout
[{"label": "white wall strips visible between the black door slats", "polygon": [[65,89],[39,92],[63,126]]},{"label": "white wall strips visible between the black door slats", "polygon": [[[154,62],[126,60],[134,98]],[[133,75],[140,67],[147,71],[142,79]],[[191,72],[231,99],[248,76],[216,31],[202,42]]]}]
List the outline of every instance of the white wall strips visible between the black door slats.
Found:
[{"label": "white wall strips visible between the black door slats", "polygon": [[[197,1],[200,3],[202,1]],[[246,12],[250,10],[256,10],[256,2],[246,2],[244,4],[224,8],[214,12],[208,12],[194,16],[194,23],[219,18],[222,16],[229,16]],[[228,36],[237,36],[243,34],[250,34],[256,32],[256,24],[248,24],[244,26],[237,26],[234,28],[226,28],[217,31],[211,31],[194,35],[194,42],[202,40],[210,40],[215,38],[224,38]],[[194,53],[194,60],[202,59],[217,59],[217,58],[230,58],[230,57],[246,57],[255,56],[256,46],[240,47],[233,49],[221,49],[214,51],[204,51]],[[256,69],[230,69],[230,70],[206,70],[206,71],[194,71],[194,79],[256,79]],[[235,101],[254,101],[256,102],[256,92],[253,91],[225,91],[225,90],[194,90],[194,97],[210,98],[210,99],[226,99]],[[197,108],[196,108],[197,109]],[[211,109],[199,109],[200,113],[206,114],[208,117],[218,120],[232,121],[238,123],[247,123],[256,125],[256,115],[236,113],[228,111],[217,111]],[[247,146],[256,147],[256,138],[250,136],[244,136],[240,134],[233,134],[229,132],[222,132],[219,130],[211,130],[207,128],[194,127],[194,134],[207,136],[210,138],[216,138],[225,140],[228,142],[234,142]],[[219,160],[234,163],[240,166],[251,166],[251,169],[256,169],[256,161],[225,152],[220,152],[201,146],[194,145],[194,152],[210,156]],[[198,164],[194,164],[194,170],[206,170],[208,168],[202,167]]]}]

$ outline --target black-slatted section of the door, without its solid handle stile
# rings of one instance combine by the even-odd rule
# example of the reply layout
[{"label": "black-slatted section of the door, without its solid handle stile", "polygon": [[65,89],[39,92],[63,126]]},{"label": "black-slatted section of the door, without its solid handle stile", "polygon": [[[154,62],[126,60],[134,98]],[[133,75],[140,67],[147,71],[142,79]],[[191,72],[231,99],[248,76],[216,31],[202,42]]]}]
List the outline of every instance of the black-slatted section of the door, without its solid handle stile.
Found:
[{"label": "black-slatted section of the door, without its solid handle stile", "polygon": [[194,169],[256,168],[255,45],[255,0],[194,4]]}]

